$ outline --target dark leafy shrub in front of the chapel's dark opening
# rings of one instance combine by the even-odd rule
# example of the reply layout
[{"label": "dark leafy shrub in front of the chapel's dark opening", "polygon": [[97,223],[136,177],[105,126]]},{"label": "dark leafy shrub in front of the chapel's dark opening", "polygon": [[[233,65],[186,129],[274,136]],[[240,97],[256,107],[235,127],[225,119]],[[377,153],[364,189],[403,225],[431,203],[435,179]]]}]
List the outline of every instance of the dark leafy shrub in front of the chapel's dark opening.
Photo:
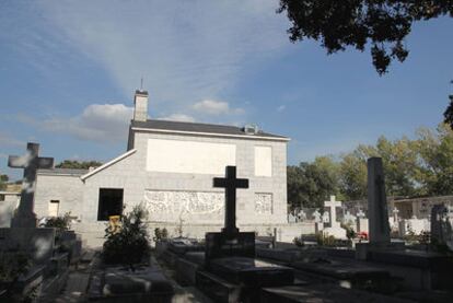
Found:
[{"label": "dark leafy shrub in front of the chapel's dark opening", "polygon": [[102,258],[105,264],[124,264],[130,266],[148,261],[151,246],[147,230],[148,212],[141,206],[136,206],[131,212],[121,215],[119,231],[111,228],[105,230]]}]

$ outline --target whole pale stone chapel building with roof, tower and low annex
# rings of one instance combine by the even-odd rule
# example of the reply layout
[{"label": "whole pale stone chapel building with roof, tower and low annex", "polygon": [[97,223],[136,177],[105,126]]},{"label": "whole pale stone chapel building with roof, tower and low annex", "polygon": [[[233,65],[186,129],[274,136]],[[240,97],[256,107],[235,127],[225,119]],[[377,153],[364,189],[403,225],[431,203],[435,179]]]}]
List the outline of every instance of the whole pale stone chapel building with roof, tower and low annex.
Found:
[{"label": "whole pale stone chapel building with roof, tower and low annex", "polygon": [[103,236],[109,215],[142,203],[151,228],[204,237],[219,231],[224,189],[212,186],[235,165],[248,189],[237,189],[236,218],[243,231],[270,231],[287,223],[287,144],[290,139],[258,130],[148,119],[148,92],[135,94],[127,151],[94,170],[39,170],[38,218],[71,212],[82,234]]}]

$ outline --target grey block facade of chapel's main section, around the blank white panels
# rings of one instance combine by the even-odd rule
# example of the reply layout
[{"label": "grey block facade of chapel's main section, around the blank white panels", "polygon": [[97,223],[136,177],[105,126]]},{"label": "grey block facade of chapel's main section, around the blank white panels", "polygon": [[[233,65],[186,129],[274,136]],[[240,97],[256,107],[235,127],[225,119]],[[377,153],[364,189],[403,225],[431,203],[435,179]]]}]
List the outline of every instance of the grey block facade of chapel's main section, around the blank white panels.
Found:
[{"label": "grey block facade of chapel's main section, around the blank white panels", "polygon": [[[191,211],[187,206],[190,197],[197,193],[223,196],[223,189],[212,187],[212,178],[222,175],[187,174],[147,171],[148,139],[171,139],[195,142],[226,143],[236,145],[235,159],[237,177],[249,178],[248,189],[237,190],[237,224],[281,224],[287,221],[287,142],[270,140],[251,140],[235,138],[213,138],[202,136],[184,136],[167,133],[136,132],[136,152],[118,161],[109,167],[97,172],[84,180],[83,188],[83,221],[95,222],[100,188],[124,188],[124,203],[126,211],[135,205],[148,203],[146,193],[176,193],[179,206],[176,208],[162,205],[162,213],[150,213],[151,221],[162,223],[185,224],[223,224],[223,203],[216,212]],[[272,176],[255,176],[254,148],[255,145],[270,147],[272,152]],[[179,193],[179,194],[177,194]],[[269,201],[271,199],[271,205]],[[257,202],[256,202],[257,201]],[[182,203],[182,205],[181,205]],[[267,203],[267,206],[266,206]],[[159,206],[158,206],[159,207]],[[201,206],[202,208],[202,206]],[[155,209],[155,207],[154,207]],[[169,213],[170,212],[170,213]],[[173,220],[169,219],[173,217]],[[172,221],[172,222],[171,222]]]}]

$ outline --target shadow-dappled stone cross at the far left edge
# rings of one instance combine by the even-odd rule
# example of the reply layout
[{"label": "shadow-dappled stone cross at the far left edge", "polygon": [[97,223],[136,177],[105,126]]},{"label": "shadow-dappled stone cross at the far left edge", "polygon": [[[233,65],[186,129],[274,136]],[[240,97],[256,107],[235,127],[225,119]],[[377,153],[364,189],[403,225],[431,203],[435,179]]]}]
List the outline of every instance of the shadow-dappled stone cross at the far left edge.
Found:
[{"label": "shadow-dappled stone cross at the far left edge", "polygon": [[38,168],[54,167],[54,158],[38,156],[39,144],[28,142],[26,144],[26,151],[25,155],[10,155],[8,159],[9,167],[24,168],[21,202],[18,208],[18,213],[12,219],[12,228],[36,228],[36,214],[33,212],[36,171]]}]

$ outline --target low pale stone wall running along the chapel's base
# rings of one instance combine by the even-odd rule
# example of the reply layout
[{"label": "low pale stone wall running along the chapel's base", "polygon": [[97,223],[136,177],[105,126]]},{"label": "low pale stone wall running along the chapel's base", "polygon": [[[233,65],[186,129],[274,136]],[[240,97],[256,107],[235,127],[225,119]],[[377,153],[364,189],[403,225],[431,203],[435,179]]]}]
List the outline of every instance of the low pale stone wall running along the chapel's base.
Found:
[{"label": "low pale stone wall running along the chapel's base", "polygon": [[[153,223],[150,222],[149,234],[151,238],[154,236],[154,229],[166,229],[169,236],[179,236],[179,224],[177,223]],[[74,223],[72,229],[76,233],[82,235],[84,247],[102,247],[105,238],[106,222],[96,223]],[[207,232],[219,232],[223,225],[221,224],[191,224],[182,226],[182,235],[193,238],[205,238]],[[292,243],[294,237],[302,234],[314,234],[315,229],[313,223],[291,223],[291,224],[247,224],[239,226],[242,232],[256,232],[260,236],[274,235],[277,229],[277,241]]]}]

